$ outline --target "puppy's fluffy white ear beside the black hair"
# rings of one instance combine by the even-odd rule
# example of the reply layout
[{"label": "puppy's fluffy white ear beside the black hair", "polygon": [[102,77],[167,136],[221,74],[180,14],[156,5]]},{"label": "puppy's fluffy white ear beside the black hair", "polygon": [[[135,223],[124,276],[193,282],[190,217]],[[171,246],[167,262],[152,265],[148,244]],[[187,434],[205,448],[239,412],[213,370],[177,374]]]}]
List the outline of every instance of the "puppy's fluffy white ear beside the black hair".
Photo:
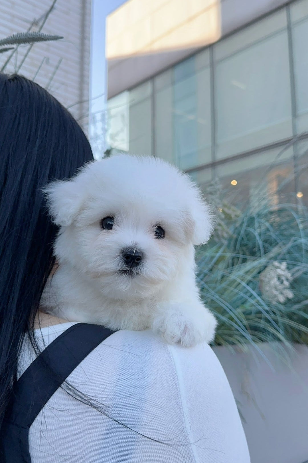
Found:
[{"label": "puppy's fluffy white ear beside the black hair", "polygon": [[84,202],[78,177],[72,180],[53,181],[44,188],[50,216],[56,225],[71,225]]}]

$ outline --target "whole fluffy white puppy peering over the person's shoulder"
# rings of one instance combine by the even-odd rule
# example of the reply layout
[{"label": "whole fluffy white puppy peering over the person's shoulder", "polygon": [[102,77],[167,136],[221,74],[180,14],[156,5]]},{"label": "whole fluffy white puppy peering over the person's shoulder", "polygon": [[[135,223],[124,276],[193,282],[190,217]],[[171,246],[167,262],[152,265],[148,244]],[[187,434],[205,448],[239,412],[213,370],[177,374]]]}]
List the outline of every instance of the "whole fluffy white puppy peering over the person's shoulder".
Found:
[{"label": "whole fluffy white puppy peering over the person's shoulder", "polygon": [[43,310],[113,330],[151,328],[170,344],[211,342],[216,320],[200,301],[194,245],[210,238],[212,217],[188,175],[117,155],[46,192],[60,267]]}]

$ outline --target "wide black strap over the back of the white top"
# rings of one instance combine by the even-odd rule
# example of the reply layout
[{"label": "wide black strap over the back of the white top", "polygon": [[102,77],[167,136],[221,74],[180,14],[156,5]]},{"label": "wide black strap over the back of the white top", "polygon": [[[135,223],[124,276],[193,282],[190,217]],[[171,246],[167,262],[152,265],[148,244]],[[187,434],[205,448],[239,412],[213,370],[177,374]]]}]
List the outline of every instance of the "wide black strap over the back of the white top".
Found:
[{"label": "wide black strap over the back of the white top", "polygon": [[72,371],[113,331],[78,323],[54,339],[13,386],[12,402],[1,432],[3,463],[30,463],[30,425]]}]

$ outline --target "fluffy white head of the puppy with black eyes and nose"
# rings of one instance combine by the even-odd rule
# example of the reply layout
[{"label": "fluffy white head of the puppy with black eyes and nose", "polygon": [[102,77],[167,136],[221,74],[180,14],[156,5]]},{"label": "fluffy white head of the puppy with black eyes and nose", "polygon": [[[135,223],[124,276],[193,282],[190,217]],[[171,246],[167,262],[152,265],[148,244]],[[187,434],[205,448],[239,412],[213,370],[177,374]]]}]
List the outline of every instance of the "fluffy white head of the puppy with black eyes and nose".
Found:
[{"label": "fluffy white head of the puppy with black eyes and nose", "polygon": [[[154,157],[112,156],[46,188],[55,255],[113,299],[146,298],[193,263],[212,232],[209,207],[187,175]],[[191,260],[191,259],[190,259]]]}]

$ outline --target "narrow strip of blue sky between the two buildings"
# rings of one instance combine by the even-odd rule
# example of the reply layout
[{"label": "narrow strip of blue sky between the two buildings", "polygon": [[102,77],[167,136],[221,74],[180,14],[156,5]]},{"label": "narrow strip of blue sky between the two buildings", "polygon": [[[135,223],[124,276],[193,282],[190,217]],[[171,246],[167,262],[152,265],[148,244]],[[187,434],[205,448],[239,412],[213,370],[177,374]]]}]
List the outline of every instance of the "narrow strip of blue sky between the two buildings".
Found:
[{"label": "narrow strip of blue sky between the two buildings", "polygon": [[92,0],[90,111],[104,109],[106,95],[105,21],[106,16],[125,0]]}]

